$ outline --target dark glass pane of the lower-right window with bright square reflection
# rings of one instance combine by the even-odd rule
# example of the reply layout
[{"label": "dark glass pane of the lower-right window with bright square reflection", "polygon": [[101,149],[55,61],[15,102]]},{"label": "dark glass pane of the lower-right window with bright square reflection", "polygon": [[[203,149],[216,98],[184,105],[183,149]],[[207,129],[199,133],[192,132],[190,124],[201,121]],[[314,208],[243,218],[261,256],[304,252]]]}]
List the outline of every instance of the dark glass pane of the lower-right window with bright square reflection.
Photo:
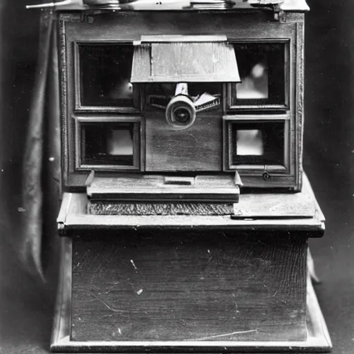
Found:
[{"label": "dark glass pane of the lower-right window with bright square reflection", "polygon": [[283,165],[284,123],[232,123],[232,165]]}]

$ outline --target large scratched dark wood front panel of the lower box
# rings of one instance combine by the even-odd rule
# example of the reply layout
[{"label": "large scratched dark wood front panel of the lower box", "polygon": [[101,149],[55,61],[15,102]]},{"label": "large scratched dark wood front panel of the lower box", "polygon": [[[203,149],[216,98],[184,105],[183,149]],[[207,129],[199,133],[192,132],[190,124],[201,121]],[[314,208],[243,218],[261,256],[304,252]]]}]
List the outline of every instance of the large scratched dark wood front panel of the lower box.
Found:
[{"label": "large scratched dark wood front panel of the lower box", "polygon": [[73,239],[75,341],[306,339],[304,237],[94,235]]}]

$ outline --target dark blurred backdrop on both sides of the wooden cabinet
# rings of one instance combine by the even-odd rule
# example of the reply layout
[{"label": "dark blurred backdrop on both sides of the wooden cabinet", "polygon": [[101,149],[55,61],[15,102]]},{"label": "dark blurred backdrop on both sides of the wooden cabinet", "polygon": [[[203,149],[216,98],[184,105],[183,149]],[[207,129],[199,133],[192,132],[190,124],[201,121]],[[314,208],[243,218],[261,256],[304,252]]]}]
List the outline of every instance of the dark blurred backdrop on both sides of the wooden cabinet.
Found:
[{"label": "dark blurred backdrop on both sides of the wooden cabinet", "polygon": [[[48,281],[19,261],[21,163],[37,58],[39,12],[0,1],[0,351],[46,353],[57,279],[57,240],[47,241]],[[308,0],[305,170],[326,216],[310,240],[315,287],[333,353],[354,353],[354,1]]]}]

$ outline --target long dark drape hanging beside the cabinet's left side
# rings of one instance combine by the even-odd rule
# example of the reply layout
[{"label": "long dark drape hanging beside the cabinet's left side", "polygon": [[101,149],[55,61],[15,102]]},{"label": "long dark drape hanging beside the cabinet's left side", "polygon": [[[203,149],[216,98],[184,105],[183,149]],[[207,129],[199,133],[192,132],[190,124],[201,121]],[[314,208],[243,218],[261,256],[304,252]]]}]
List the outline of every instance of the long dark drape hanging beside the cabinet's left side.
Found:
[{"label": "long dark drape hanging beside the cabinet's left side", "polygon": [[[57,212],[60,183],[59,82],[54,17],[51,10],[41,11],[37,69],[23,166],[21,257],[28,269],[36,270],[41,277],[44,277],[41,261],[43,235],[48,233],[48,222],[52,221],[48,211]],[[52,227],[49,229],[54,231]]]}]

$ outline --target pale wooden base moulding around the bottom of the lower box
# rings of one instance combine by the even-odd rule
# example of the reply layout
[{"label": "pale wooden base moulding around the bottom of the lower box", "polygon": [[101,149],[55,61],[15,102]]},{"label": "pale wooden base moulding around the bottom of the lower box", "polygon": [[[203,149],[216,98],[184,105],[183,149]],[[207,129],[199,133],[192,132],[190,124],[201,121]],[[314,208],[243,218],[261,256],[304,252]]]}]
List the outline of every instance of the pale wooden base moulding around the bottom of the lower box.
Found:
[{"label": "pale wooden base moulding around the bottom of the lower box", "polygon": [[[62,239],[62,268],[57,297],[51,351],[59,353],[316,353],[328,352],[330,338],[313,286],[308,280],[307,339],[304,341],[74,341],[72,339],[72,240]],[[102,333],[103,335],[103,333]]]}]

